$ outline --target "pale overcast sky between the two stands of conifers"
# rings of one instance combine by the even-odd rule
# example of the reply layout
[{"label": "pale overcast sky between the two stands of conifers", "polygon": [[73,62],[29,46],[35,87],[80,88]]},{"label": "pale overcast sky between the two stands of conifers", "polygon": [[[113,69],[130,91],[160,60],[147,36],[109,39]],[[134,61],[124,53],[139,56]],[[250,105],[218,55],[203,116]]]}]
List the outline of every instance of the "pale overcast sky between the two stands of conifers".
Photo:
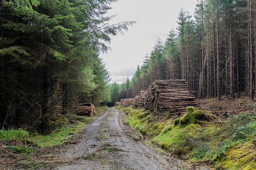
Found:
[{"label": "pale overcast sky between the two stands of conifers", "polygon": [[111,38],[108,53],[100,55],[110,73],[110,83],[131,80],[137,66],[143,64],[157,40],[163,43],[171,29],[176,31],[181,8],[193,16],[197,0],[118,0],[110,7],[108,15],[117,15],[110,24],[136,21],[124,35]]}]

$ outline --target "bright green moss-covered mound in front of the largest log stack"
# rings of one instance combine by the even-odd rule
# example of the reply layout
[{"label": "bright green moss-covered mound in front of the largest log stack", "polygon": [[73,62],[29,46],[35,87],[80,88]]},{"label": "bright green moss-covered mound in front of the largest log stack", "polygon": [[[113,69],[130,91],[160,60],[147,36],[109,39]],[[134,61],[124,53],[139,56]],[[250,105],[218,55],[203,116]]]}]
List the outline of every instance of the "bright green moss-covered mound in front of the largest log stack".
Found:
[{"label": "bright green moss-covered mound in front of the largest log stack", "polygon": [[195,109],[192,106],[186,108],[186,114],[174,120],[175,126],[187,126],[189,124],[200,124],[203,121],[213,121],[217,119],[209,111]]}]

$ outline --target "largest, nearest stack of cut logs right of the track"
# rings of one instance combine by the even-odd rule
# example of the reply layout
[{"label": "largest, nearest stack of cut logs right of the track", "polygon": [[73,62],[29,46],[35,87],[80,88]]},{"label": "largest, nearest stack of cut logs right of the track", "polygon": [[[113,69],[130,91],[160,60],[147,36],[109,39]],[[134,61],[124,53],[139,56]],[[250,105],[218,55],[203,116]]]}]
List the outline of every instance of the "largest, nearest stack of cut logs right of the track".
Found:
[{"label": "largest, nearest stack of cut logs right of the track", "polygon": [[186,113],[187,106],[197,106],[186,80],[155,80],[148,88],[146,105],[153,112]]}]

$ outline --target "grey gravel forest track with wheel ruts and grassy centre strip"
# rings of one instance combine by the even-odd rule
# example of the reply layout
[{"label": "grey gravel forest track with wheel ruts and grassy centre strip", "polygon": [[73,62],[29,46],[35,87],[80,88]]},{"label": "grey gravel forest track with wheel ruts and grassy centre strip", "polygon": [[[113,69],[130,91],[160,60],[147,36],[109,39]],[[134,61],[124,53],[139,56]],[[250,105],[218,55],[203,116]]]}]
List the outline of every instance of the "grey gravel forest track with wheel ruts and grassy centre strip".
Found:
[{"label": "grey gravel forest track with wheel ruts and grassy centre strip", "polygon": [[61,157],[69,163],[54,170],[210,170],[188,165],[146,145],[115,108],[93,121],[77,144],[71,144]]}]

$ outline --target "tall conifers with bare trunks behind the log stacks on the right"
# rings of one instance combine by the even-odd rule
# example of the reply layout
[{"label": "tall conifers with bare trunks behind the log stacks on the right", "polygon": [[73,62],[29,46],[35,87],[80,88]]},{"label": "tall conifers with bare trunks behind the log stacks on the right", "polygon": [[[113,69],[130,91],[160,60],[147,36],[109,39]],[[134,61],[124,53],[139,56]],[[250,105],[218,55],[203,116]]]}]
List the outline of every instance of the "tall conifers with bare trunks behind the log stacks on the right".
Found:
[{"label": "tall conifers with bare trunks behind the log stacks on the right", "polygon": [[157,40],[132,79],[112,84],[113,102],[139,95],[157,79],[186,79],[198,99],[256,97],[256,1],[200,0],[193,16],[180,10],[177,29]]}]

